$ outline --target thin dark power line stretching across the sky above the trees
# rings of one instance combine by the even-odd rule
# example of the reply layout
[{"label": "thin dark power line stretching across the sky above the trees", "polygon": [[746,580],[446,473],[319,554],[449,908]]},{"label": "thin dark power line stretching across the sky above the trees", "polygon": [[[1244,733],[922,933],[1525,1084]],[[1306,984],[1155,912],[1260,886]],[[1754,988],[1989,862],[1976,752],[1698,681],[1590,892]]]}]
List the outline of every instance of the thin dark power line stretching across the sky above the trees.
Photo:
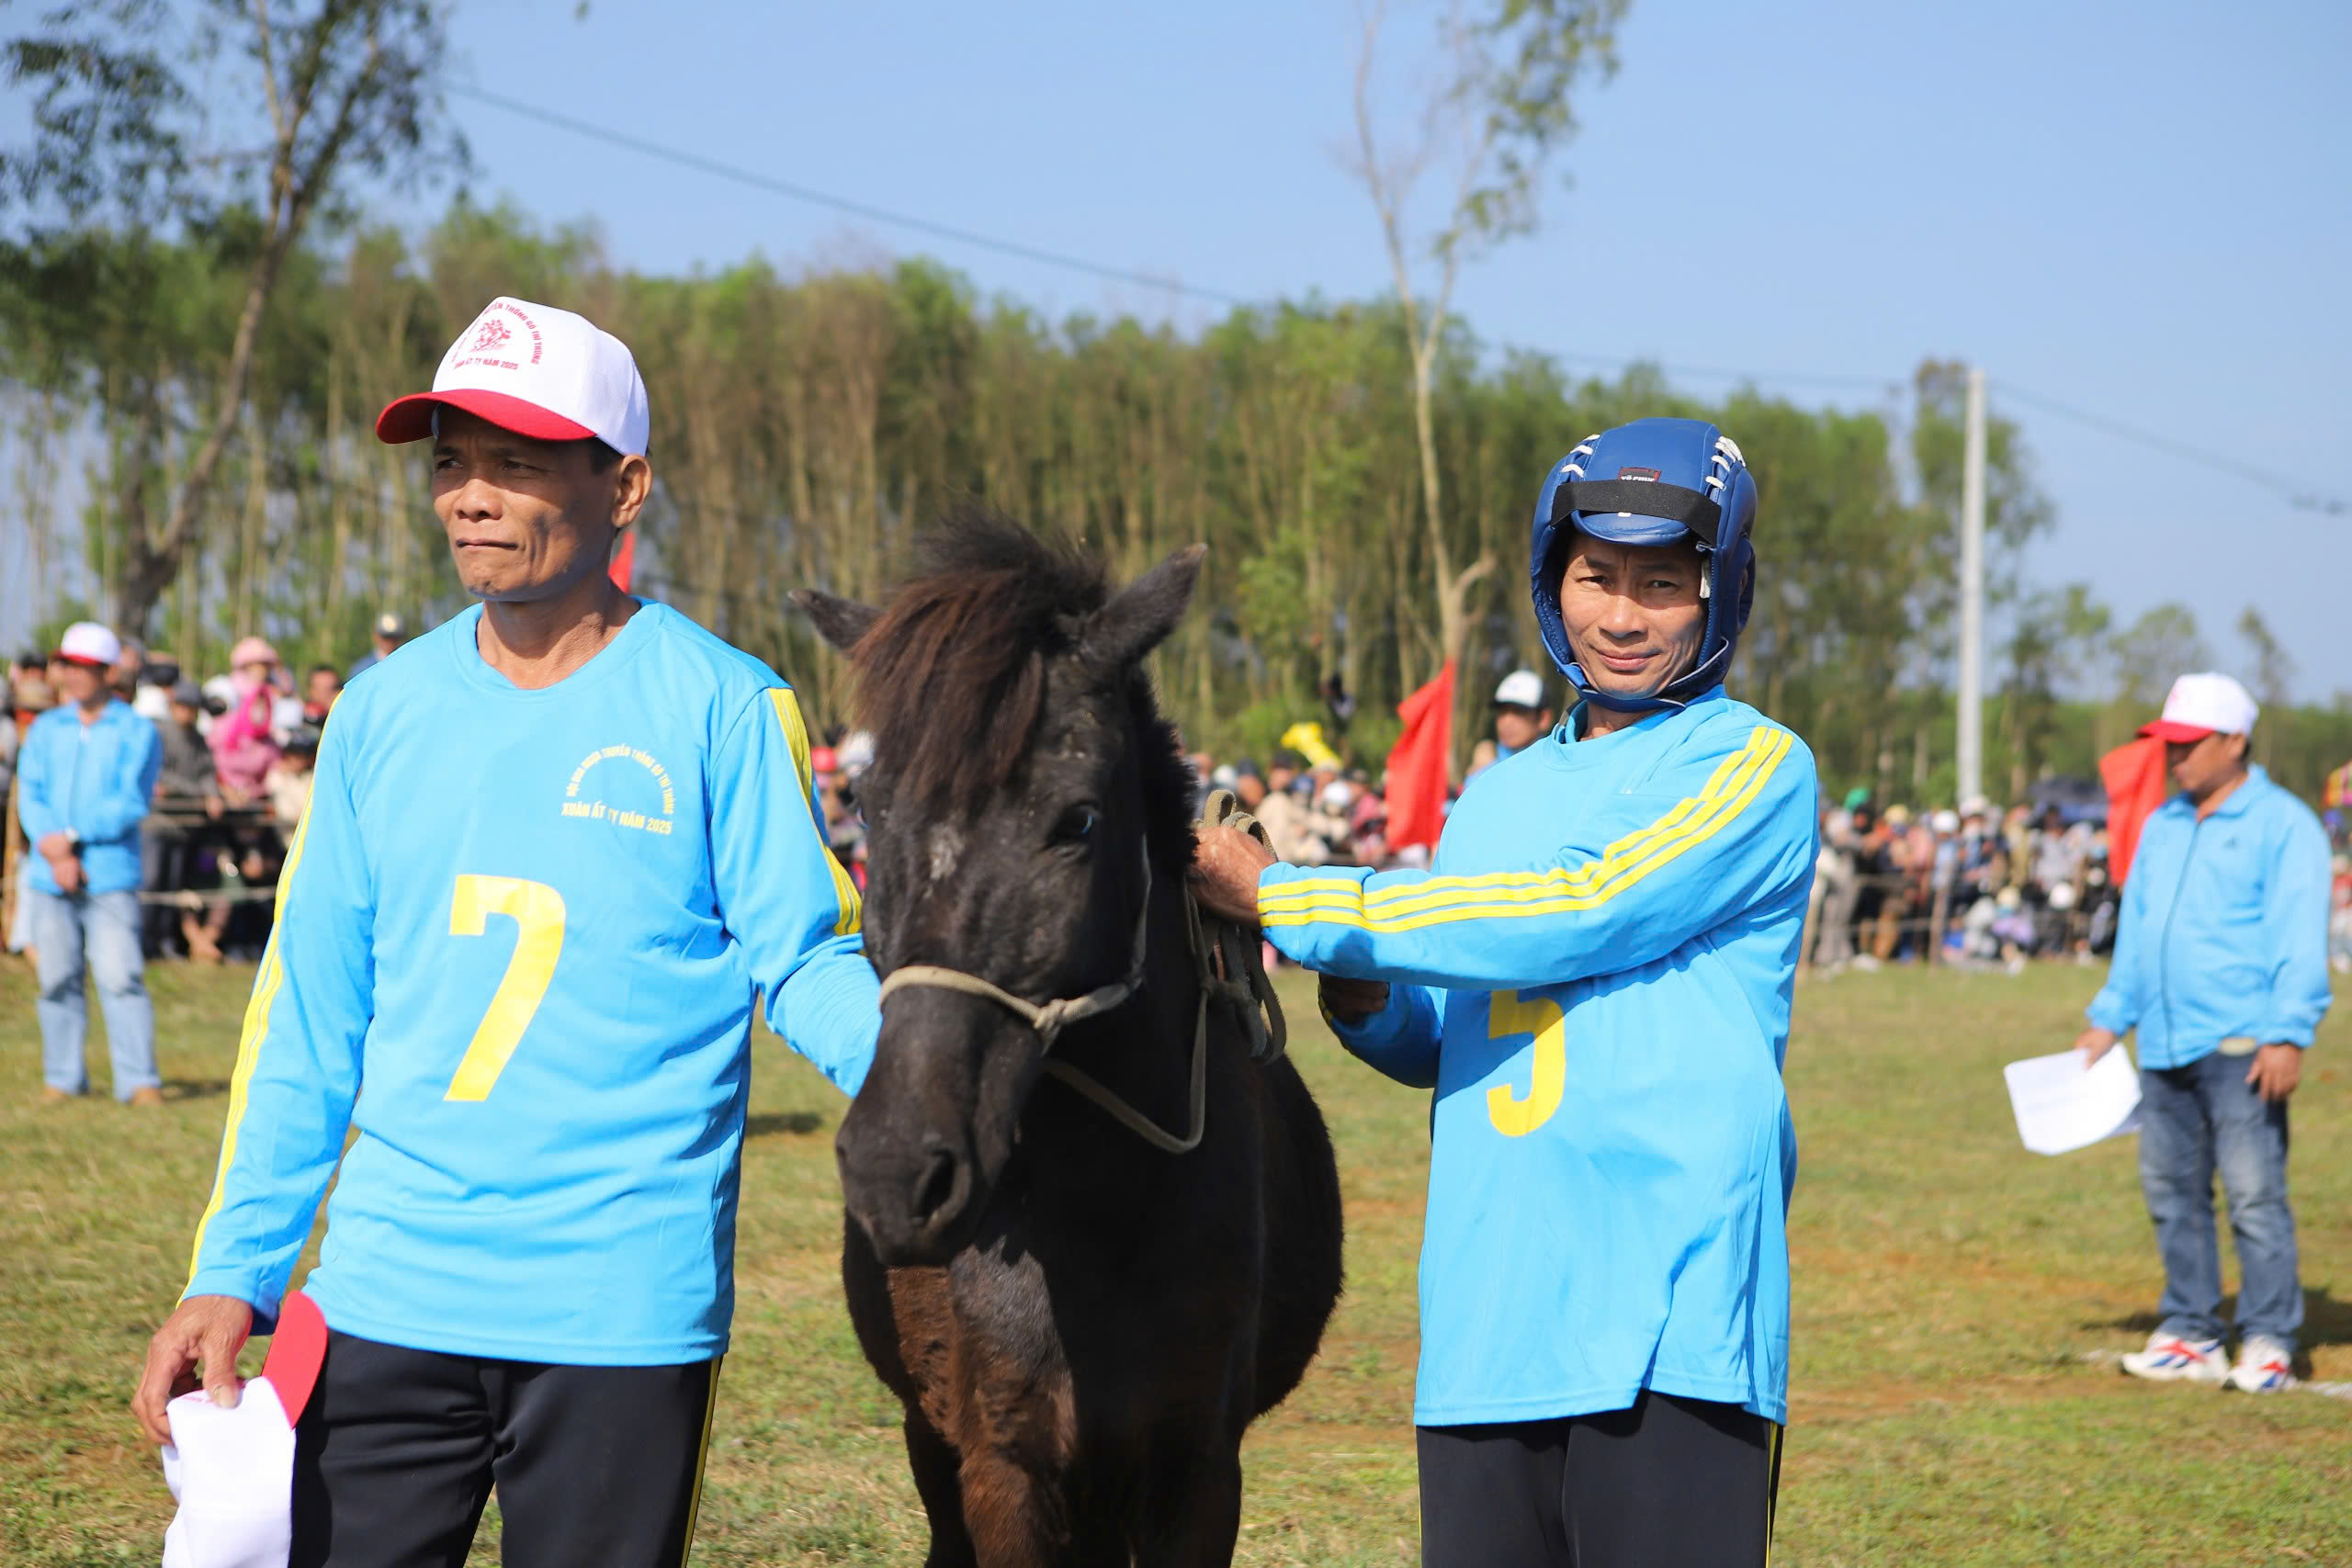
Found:
[{"label": "thin dark power line stretching across the sky above the trees", "polygon": [[[630,136],[628,132],[616,132],[609,125],[595,125],[593,120],[576,120],[572,115],[555,113],[553,108],[539,108],[536,103],[517,103],[515,99],[503,96],[503,94],[482,94],[482,96],[468,99],[468,101],[475,103],[475,106],[485,106],[485,108],[503,108],[510,115],[522,115],[524,120],[536,120],[541,125],[553,125],[553,127],[572,132],[576,136],[588,136],[590,141],[602,141],[607,146],[626,148],[626,150],[640,153],[644,158],[656,158],[661,162],[670,162],[670,165],[677,165],[682,169],[696,169],[701,174],[713,174],[717,179],[729,179],[729,181],[736,181],[739,186],[750,186],[755,190],[767,190],[771,195],[783,195],[783,197],[790,197],[795,202],[809,202],[814,207],[830,207],[833,212],[847,212],[851,216],[868,219],[873,223],[889,223],[894,228],[906,228],[906,230],[913,230],[913,233],[920,233],[920,235],[931,235],[936,240],[953,240],[957,244],[971,244],[976,249],[995,252],[1000,256],[1016,256],[1021,261],[1037,261],[1042,266],[1058,266],[1058,268],[1065,268],[1065,270],[1073,270],[1073,273],[1087,273],[1089,277],[1103,277],[1103,280],[1110,280],[1110,282],[1124,282],[1124,284],[1134,284],[1134,287],[1141,287],[1141,289],[1160,289],[1160,292],[1181,294],[1181,296],[1188,296],[1188,299],[1204,299],[1204,301],[1218,303],[1218,306],[1249,308],[1251,303],[1256,303],[1256,301],[1242,299],[1240,294],[1228,294],[1225,289],[1204,289],[1200,284],[1174,282],[1169,277],[1152,277],[1150,273],[1138,273],[1138,270],[1131,270],[1131,268],[1115,268],[1115,266],[1105,266],[1101,261],[1087,261],[1084,256],[1070,256],[1065,252],[1051,252],[1051,249],[1044,249],[1044,247],[1037,247],[1037,244],[1023,244],[1018,240],[1002,240],[997,235],[983,235],[983,233],[976,233],[971,228],[957,228],[953,223],[936,223],[931,219],[917,219],[917,216],[906,214],[906,212],[891,212],[889,207],[877,207],[873,202],[858,202],[858,200],[851,200],[847,195],[833,195],[828,190],[816,190],[811,186],[800,186],[795,181],[776,179],[771,174],[760,174],[757,169],[746,169],[741,165],[731,165],[731,162],[724,162],[724,160],[717,160],[717,158],[706,158],[701,153],[689,153],[684,148],[673,148],[673,146],[666,146],[661,141],[647,141],[644,136]],[[1505,348],[1515,348],[1515,346],[1505,346]],[[1543,350],[1536,350],[1536,353],[1543,353]],[[1682,378],[1691,378],[1691,381],[1748,381],[1748,383],[1755,383],[1755,386],[1823,386],[1823,388],[1886,390],[1891,386],[1900,386],[1903,383],[1903,376],[1856,376],[1856,374],[1835,374],[1835,371],[1740,371],[1740,369],[1722,369],[1722,367],[1710,367],[1710,364],[1668,364],[1668,362],[1644,360],[1644,357],[1573,355],[1573,353],[1555,353],[1550,357],[1557,360],[1557,362],[1562,362],[1562,364],[1585,364],[1585,367],[1595,367],[1595,369],[1613,369],[1618,374],[1632,369],[1635,364],[1651,364],[1661,374],[1668,374],[1668,376],[1682,376]],[[2060,418],[2072,418],[2072,421],[2077,421],[2082,425],[2089,425],[2091,430],[2100,430],[2100,433],[2112,435],[2117,440],[2126,440],[2126,442],[2136,442],[2140,447],[2150,447],[2154,451],[2164,451],[2166,456],[2171,456],[2171,458],[2176,458],[2180,463],[2192,463],[2192,465],[2211,468],[2211,470],[2225,473],[2225,475],[2230,475],[2234,480],[2244,480],[2246,484],[2258,484],[2260,489],[2267,489],[2267,491],[2272,491],[2277,496],[2284,496],[2286,503],[2293,505],[2296,510],[2321,512],[2321,515],[2328,515],[2328,517],[2343,517],[2343,515],[2352,512],[2352,503],[2343,501],[2340,496],[2326,496],[2326,494],[2321,494],[2317,489],[2300,487],[2300,484],[2296,484],[2296,482],[2291,482],[2291,480],[2286,480],[2281,475],[2274,475],[2274,473],[2270,473],[2265,468],[2256,468],[2251,463],[2237,463],[2232,458],[2223,458],[2223,456],[2213,456],[2209,451],[2199,451],[2197,447],[2187,447],[2187,444],[2183,444],[2183,442],[2178,442],[2173,437],[2164,437],[2164,435],[2157,435],[2152,430],[2138,430],[2138,428],[2126,425],[2122,421],[2105,418],[2103,414],[2091,414],[2086,409],[2077,409],[2077,407],[2063,404],[2056,397],[2042,397],[2039,393],[2030,393],[2030,390],[2025,390],[2025,388],[2020,388],[2020,386],[2016,386],[2011,381],[1997,381],[1994,388],[2004,397],[2013,397],[2013,400],[2018,400],[2023,404],[2037,407],[2037,409],[2042,409],[2046,414],[2056,414]]]}]

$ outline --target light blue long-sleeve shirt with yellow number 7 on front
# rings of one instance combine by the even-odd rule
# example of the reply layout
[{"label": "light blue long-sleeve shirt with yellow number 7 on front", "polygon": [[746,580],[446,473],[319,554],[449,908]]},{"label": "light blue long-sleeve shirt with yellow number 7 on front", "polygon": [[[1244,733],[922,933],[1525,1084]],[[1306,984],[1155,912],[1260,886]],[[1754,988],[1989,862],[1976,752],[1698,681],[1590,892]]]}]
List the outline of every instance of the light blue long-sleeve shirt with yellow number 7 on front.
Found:
[{"label": "light blue long-sleeve shirt with yellow number 7 on front", "polygon": [[[522,691],[480,611],[336,703],[188,1295],[602,1366],[727,1347],[750,1016],[844,1091],[880,1011],[793,691],[644,604]],[[355,1133],[343,1152],[346,1133]]]}]

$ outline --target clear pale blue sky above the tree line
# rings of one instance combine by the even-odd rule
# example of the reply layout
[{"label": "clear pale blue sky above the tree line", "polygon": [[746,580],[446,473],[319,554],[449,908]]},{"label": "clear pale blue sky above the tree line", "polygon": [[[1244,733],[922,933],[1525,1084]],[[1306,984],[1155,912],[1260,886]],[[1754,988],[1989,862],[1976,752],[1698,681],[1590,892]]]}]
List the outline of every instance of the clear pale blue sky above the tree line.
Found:
[{"label": "clear pale blue sky above the tree line", "polygon": [[[1425,59],[1432,9],[1388,49]],[[562,110],[938,223],[1247,299],[1388,289],[1350,134],[1345,0],[1183,7],[470,0],[459,68]],[[2352,7],[1635,0],[1543,230],[1465,273],[1486,341],[1752,371],[1875,404],[1964,357],[2025,423],[2044,581],[2253,602],[2298,691],[2352,686],[2352,517],[2006,402],[2004,383],[2352,501]],[[463,96],[461,96],[463,103]],[[482,195],[595,219],[637,268],[934,254],[1047,310],[1214,306],[760,195],[461,108]],[[1856,376],[1825,388],[1797,374]],[[1679,376],[1693,390],[1719,381]],[[1872,390],[1877,381],[1882,390]],[[1764,522],[1769,527],[1769,520]]]}]

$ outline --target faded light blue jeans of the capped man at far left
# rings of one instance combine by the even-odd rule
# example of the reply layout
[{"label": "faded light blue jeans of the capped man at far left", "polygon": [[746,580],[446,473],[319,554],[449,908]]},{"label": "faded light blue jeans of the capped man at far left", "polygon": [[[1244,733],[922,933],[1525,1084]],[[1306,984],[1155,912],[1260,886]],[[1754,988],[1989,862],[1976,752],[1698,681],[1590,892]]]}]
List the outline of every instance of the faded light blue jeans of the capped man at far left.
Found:
[{"label": "faded light blue jeans of the capped man at far left", "polygon": [[106,1016],[106,1051],[115,1060],[115,1098],[158,1088],[155,1009],[146,994],[139,957],[139,893],[40,893],[26,889],[33,910],[33,947],[40,952],[40,1077],[59,1093],[89,1088],[82,1034],[89,1004],[82,997],[87,969],[99,976],[99,1011]]}]

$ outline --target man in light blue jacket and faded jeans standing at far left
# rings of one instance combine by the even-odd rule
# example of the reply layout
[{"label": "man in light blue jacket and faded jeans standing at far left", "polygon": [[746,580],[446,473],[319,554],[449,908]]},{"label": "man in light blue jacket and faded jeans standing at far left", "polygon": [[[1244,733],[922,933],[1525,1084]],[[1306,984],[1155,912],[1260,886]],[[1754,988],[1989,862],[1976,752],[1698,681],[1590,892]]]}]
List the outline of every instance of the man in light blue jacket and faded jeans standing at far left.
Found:
[{"label": "man in light blue jacket and faded jeans standing at far left", "polygon": [[52,1105],[89,1088],[85,964],[99,980],[115,1098],[162,1105],[139,952],[139,823],[162,773],[162,736],[108,689],[120,656],[103,625],[68,625],[52,658],[61,701],[33,719],[16,757],[16,820],[35,851],[24,896],[40,959],[40,1098]]}]

